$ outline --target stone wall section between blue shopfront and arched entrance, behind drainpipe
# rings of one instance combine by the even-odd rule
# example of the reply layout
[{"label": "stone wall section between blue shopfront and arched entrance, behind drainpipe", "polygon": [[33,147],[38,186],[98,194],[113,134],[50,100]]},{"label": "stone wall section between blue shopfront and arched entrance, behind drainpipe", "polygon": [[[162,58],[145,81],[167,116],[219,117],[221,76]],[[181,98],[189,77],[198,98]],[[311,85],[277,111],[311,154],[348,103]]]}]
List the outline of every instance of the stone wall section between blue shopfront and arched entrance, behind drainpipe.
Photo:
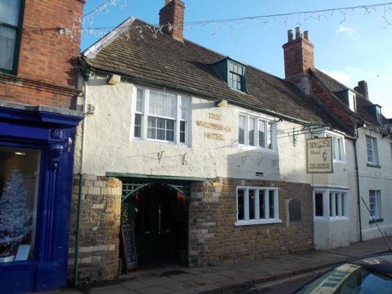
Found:
[{"label": "stone wall section between blue shopfront and arched entrance, behind drainpipe", "polygon": [[[78,175],[73,179],[68,279],[73,279]],[[122,183],[83,175],[79,239],[79,284],[111,280],[117,274]]]}]

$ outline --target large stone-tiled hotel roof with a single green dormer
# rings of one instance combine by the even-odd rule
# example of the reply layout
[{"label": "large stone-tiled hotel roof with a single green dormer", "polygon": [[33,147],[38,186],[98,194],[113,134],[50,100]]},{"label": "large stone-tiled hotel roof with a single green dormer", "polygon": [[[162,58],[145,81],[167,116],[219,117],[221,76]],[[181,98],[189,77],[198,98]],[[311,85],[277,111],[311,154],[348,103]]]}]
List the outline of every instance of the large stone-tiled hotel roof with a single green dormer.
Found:
[{"label": "large stone-tiled hotel roof with a single green dormer", "polygon": [[[226,57],[189,40],[175,41],[163,33],[156,38],[139,28],[146,23],[134,20],[127,32],[119,34],[106,46],[84,60],[93,68],[109,73],[141,78],[176,87],[183,91],[203,92],[216,98],[230,98],[307,122],[332,124],[315,100],[304,96],[294,84],[246,66],[247,93],[231,89],[211,66]],[[145,28],[147,30],[147,28]],[[90,50],[91,51],[91,50]]]}]

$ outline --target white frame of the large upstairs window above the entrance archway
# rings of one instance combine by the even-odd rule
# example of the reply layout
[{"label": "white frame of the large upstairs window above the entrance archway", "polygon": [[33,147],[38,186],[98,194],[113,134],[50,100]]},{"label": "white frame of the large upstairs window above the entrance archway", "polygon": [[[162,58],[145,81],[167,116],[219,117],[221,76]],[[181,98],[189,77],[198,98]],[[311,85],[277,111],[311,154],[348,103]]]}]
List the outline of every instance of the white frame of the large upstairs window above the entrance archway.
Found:
[{"label": "white frame of the large upstairs window above the entrance archway", "polygon": [[[143,111],[137,111],[137,91],[140,89],[143,91],[143,98],[142,98],[142,109]],[[167,93],[170,95],[175,96],[175,117],[168,117],[168,116],[162,116],[159,114],[149,114],[149,99],[150,99],[150,92],[151,91],[156,91],[158,93]],[[182,113],[182,99],[187,99],[188,100],[188,105],[187,108],[185,108],[185,118],[181,117]],[[131,126],[130,126],[130,140],[136,140],[136,141],[147,141],[147,142],[161,142],[161,143],[168,143],[168,144],[175,144],[175,145],[180,145],[180,146],[188,146],[189,144],[189,119],[190,119],[190,110],[191,110],[192,104],[191,104],[191,97],[188,95],[183,95],[183,94],[178,94],[174,92],[169,92],[169,91],[162,91],[160,89],[156,88],[149,88],[149,87],[144,87],[144,86],[133,86],[133,95],[132,95],[132,115],[131,115]],[[139,114],[142,116],[141,118],[141,136],[140,137],[135,137],[135,117],[136,114]],[[160,140],[160,139],[153,139],[153,138],[148,138],[148,117],[153,117],[153,118],[160,118],[160,119],[165,119],[165,120],[173,120],[174,121],[174,140],[169,141],[169,140]],[[180,142],[180,128],[181,128],[181,122],[185,123],[185,142]],[[157,128],[157,127],[156,127]],[[166,135],[165,135],[166,136]]]}]

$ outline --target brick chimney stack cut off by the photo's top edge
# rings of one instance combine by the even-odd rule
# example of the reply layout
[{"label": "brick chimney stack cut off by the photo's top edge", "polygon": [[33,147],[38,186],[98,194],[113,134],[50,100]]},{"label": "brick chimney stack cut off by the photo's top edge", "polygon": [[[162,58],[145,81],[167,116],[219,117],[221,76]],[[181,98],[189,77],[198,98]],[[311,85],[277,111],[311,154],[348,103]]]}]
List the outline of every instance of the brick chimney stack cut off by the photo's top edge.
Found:
[{"label": "brick chimney stack cut off by the photo's top edge", "polygon": [[165,0],[165,6],[159,10],[159,25],[163,25],[163,30],[180,42],[184,42],[184,10],[185,4],[181,0]]}]

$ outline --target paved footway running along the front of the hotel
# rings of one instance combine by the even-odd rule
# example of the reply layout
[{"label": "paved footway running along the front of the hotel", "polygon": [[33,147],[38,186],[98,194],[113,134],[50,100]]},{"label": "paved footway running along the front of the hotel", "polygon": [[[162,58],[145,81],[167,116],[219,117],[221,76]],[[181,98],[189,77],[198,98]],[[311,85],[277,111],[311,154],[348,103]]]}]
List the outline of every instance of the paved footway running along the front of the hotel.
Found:
[{"label": "paved footway running along the front of the hotel", "polygon": [[[392,244],[392,236],[387,237]],[[218,294],[242,293],[257,284],[340,264],[350,259],[388,252],[382,238],[330,250],[309,250],[225,266],[184,268],[176,265],[135,270],[118,279],[60,294]]]}]

